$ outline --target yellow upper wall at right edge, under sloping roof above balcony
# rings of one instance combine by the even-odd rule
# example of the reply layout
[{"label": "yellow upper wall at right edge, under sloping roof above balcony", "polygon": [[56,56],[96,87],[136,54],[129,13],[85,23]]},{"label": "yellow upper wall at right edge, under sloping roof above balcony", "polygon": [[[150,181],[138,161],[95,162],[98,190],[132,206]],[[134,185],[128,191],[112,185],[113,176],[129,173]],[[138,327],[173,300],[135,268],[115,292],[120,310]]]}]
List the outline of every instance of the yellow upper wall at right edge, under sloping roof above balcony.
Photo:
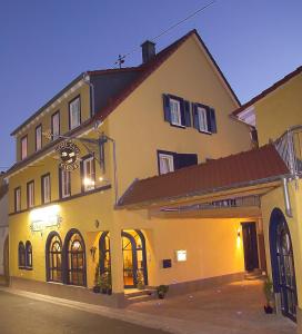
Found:
[{"label": "yellow upper wall at right edge, under sloping roof above balcony", "polygon": [[288,128],[302,125],[302,73],[255,104],[259,144],[279,138]]}]

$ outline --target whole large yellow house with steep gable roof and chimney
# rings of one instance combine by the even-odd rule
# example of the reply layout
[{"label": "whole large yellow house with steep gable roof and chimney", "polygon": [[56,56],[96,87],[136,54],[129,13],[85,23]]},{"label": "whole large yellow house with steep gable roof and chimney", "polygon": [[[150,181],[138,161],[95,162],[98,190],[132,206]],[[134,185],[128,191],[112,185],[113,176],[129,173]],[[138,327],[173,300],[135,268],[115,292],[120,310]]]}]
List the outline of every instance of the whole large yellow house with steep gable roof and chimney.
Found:
[{"label": "whole large yellow house with steep gable roof and chimney", "polygon": [[[12,286],[121,305],[139,284],[169,284],[172,294],[265,268],[258,195],[268,186],[255,189],[249,176],[273,178],[286,166],[271,147],[255,157],[274,170],[240,154],[253,127],[229,116],[240,104],[197,31],[157,55],[148,41],[142,50],[141,66],[80,75],[12,132]],[[80,167],[67,171],[62,160]],[[110,298],[82,288],[94,285],[98,264],[111,273]]]}]

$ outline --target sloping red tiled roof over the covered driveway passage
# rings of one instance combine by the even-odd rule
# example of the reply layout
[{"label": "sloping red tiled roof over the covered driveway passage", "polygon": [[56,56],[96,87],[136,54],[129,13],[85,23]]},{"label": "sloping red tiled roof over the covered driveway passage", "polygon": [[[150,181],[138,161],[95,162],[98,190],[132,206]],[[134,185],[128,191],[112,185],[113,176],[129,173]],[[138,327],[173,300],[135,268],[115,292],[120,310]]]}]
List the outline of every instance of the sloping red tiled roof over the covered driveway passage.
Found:
[{"label": "sloping red tiled roof over the covered driveway passage", "polygon": [[119,206],[147,204],[240,187],[289,174],[273,145],[138,180]]}]

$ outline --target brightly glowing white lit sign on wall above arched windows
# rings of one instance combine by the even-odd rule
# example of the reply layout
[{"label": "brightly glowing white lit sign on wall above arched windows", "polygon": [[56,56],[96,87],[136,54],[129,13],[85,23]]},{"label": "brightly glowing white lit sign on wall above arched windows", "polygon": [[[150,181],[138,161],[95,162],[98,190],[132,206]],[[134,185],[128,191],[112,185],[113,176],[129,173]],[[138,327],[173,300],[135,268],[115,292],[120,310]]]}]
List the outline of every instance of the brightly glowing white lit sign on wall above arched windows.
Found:
[{"label": "brightly glowing white lit sign on wall above arched windows", "polygon": [[32,232],[43,230],[47,227],[59,227],[61,217],[59,205],[51,205],[30,213],[30,228]]}]

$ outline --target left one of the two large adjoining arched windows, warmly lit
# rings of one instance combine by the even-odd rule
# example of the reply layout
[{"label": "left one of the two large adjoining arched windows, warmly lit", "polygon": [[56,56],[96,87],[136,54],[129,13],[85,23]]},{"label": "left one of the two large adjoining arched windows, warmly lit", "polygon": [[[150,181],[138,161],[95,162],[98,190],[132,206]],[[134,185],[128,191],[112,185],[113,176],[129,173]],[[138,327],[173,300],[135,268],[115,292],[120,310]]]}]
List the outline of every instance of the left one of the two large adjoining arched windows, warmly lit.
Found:
[{"label": "left one of the two large adjoining arched windows, warmly lit", "polygon": [[47,240],[47,281],[62,282],[62,242],[58,233],[52,232]]}]

